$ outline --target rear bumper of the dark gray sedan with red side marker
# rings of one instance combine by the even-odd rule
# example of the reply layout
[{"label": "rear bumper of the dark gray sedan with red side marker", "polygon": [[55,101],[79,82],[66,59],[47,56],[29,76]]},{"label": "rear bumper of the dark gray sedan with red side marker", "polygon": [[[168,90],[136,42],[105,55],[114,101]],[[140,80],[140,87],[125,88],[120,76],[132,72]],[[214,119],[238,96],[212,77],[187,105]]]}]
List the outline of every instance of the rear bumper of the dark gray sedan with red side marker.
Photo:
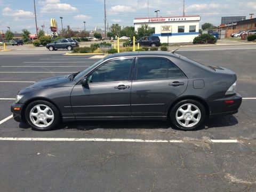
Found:
[{"label": "rear bumper of the dark gray sedan with red side marker", "polygon": [[209,118],[222,115],[232,115],[238,112],[242,103],[242,96],[239,94],[231,95],[221,99],[207,100],[209,105]]}]

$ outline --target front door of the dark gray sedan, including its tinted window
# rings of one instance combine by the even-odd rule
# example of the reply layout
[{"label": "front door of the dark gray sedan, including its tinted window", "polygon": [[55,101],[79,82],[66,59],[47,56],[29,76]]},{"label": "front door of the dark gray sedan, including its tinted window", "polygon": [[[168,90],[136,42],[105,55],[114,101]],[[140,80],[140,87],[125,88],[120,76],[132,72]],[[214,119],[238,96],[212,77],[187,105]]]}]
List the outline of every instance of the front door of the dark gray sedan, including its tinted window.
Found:
[{"label": "front door of the dark gray sedan, including its tinted window", "polygon": [[107,61],[87,75],[87,86],[74,87],[71,106],[76,118],[131,116],[133,60]]}]

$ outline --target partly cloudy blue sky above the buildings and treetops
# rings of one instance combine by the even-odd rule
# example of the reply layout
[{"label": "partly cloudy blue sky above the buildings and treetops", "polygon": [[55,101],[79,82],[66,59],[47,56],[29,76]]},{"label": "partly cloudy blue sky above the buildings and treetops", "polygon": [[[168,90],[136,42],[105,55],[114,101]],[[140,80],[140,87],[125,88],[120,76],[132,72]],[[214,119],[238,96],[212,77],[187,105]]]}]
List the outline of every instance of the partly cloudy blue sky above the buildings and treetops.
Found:
[{"label": "partly cloudy blue sky above the buildings and treetops", "polygon": [[[104,0],[35,0],[37,26],[50,33],[50,20],[54,18],[61,28],[60,17],[63,17],[63,28],[69,25],[73,30],[104,29]],[[183,0],[106,0],[106,23],[111,26],[133,26],[134,18],[171,17],[183,14]],[[185,0],[185,15],[200,15],[200,25],[205,22],[220,25],[221,17],[246,16],[254,13],[256,17],[256,1],[247,0]],[[21,32],[26,28],[31,34],[36,33],[33,0],[0,0],[0,30]]]}]

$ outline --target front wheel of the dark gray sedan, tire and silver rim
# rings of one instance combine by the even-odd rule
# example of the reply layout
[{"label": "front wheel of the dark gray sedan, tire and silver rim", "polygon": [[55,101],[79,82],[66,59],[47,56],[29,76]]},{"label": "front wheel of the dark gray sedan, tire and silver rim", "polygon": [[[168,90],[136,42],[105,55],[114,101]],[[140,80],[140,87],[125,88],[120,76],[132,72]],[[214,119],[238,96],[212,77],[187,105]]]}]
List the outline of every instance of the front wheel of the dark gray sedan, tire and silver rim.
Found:
[{"label": "front wheel of the dark gray sedan, tire and silver rim", "polygon": [[60,122],[60,113],[52,103],[38,100],[29,103],[25,110],[25,119],[33,130],[48,131]]}]

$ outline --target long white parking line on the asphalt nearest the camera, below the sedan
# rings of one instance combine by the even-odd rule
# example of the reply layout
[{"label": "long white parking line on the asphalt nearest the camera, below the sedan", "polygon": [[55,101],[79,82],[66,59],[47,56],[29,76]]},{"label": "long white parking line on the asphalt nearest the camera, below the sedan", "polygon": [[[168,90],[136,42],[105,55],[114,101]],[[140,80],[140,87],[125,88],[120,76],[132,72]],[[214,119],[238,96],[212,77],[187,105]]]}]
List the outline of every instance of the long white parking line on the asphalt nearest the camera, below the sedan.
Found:
[{"label": "long white parking line on the asphalt nearest the camera, below the sedan", "polygon": [[[149,143],[184,143],[193,142],[185,140],[147,140],[147,139],[108,139],[108,138],[6,138],[1,137],[0,141],[105,141],[105,142],[149,142]],[[196,140],[197,142],[200,140]],[[202,140],[205,142],[205,140]],[[238,143],[236,139],[209,139],[209,143]]]}]

